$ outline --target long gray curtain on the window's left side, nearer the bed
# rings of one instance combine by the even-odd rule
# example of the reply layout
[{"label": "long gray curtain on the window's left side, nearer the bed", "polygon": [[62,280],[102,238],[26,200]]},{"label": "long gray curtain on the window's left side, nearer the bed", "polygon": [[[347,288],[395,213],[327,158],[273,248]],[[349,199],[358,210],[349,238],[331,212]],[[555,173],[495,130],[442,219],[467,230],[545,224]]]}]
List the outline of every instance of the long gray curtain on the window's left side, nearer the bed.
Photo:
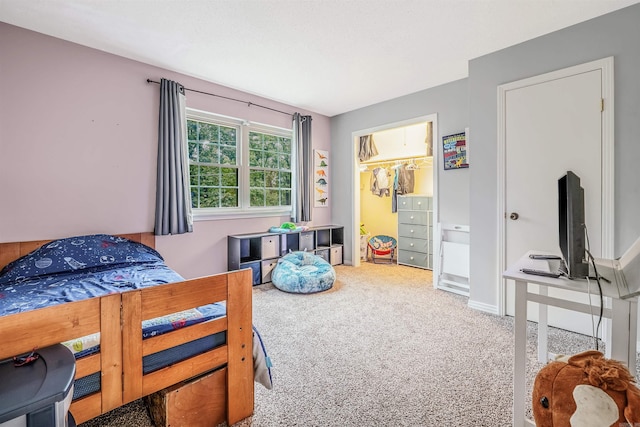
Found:
[{"label": "long gray curtain on the window's left side, nearer the bed", "polygon": [[156,235],[193,231],[184,87],[160,82]]}]

